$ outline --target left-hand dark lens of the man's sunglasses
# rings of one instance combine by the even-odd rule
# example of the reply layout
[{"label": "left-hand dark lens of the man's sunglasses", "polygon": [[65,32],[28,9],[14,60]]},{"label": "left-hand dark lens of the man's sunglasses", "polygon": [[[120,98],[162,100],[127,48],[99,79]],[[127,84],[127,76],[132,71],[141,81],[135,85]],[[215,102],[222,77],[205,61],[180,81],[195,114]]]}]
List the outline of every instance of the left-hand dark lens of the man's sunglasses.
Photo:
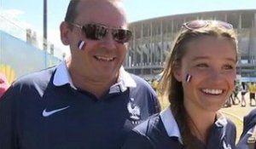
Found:
[{"label": "left-hand dark lens of the man's sunglasses", "polygon": [[100,40],[106,36],[108,29],[105,26],[89,24],[83,26],[83,32],[85,37],[89,39]]}]

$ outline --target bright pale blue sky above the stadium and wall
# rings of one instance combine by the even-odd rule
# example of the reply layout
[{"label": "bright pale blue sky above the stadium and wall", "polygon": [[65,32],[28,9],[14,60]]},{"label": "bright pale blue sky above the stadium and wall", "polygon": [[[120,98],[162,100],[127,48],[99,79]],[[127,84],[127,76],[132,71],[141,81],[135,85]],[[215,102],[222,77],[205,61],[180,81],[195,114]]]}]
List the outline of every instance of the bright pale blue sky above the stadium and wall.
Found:
[{"label": "bright pale blue sky above the stadium and wall", "polygon": [[[66,14],[70,0],[47,0],[48,39],[55,47],[67,52],[60,40],[59,26]],[[256,9],[256,0],[123,0],[129,22],[147,20],[172,14],[195,12]],[[23,32],[31,28],[43,37],[44,0],[0,0],[0,19],[11,22]],[[0,21],[1,26],[1,21]],[[3,26],[2,26],[3,28]],[[4,28],[9,29],[9,26]]]}]

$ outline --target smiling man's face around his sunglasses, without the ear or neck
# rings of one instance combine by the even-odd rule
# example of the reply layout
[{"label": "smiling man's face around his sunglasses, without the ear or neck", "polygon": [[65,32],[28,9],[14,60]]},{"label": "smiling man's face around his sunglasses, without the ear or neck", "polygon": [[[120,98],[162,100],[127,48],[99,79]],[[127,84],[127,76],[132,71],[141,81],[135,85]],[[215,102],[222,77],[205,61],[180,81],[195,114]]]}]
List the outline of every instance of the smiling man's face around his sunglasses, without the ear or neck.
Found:
[{"label": "smiling man's face around his sunglasses, without the ear or neck", "polygon": [[[127,29],[124,10],[118,5],[105,1],[81,1],[78,6],[78,16],[74,20],[80,26],[86,24],[101,24],[110,28]],[[71,49],[72,62],[69,67],[83,77],[91,79],[111,79],[116,77],[126,54],[126,43],[113,40],[112,30],[105,37],[93,40],[85,37],[83,31],[72,26],[67,34]],[[83,49],[78,48],[79,41],[84,41]]]}]

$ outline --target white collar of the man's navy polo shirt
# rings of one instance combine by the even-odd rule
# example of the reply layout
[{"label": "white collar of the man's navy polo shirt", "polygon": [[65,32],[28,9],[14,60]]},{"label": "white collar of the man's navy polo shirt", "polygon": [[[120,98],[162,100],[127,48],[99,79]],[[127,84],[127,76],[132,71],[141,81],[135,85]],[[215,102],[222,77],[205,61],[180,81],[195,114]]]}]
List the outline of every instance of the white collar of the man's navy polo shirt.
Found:
[{"label": "white collar of the man's navy polo shirt", "polygon": [[[74,86],[72,78],[70,77],[70,74],[68,72],[66,60],[62,60],[61,64],[57,66],[53,83],[55,86],[70,84],[70,86],[73,89],[77,89]],[[137,87],[137,83],[131,77],[131,74],[129,74],[128,72],[125,72],[124,67],[121,66],[119,71],[118,81],[117,83],[113,84],[113,86],[111,86],[111,88],[109,89],[109,93],[111,94],[116,92],[124,92],[127,88],[136,88],[136,87]]]}]

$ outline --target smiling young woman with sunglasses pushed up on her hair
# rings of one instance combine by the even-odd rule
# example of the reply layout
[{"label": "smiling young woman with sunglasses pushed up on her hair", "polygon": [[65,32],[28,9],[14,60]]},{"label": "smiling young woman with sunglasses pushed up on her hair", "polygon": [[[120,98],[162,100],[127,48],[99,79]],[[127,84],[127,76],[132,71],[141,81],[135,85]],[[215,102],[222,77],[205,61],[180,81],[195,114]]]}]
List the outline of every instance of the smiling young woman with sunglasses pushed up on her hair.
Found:
[{"label": "smiling young woman with sunglasses pushed up on her hair", "polygon": [[133,129],[123,149],[235,148],[235,124],[218,110],[234,88],[236,61],[230,24],[184,23],[161,79],[171,106]]}]

